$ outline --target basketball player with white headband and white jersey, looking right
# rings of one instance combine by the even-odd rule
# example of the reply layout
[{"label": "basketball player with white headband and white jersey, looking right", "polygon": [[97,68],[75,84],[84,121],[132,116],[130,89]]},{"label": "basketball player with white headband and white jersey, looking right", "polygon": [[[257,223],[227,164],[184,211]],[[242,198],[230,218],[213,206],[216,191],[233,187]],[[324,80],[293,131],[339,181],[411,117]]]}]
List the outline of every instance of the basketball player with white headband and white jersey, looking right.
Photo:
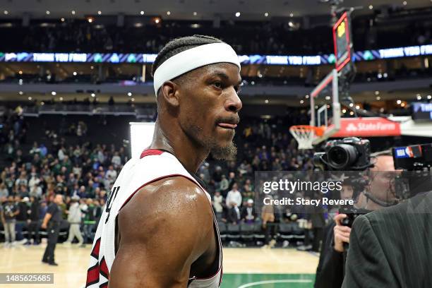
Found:
[{"label": "basketball player with white headband and white jersey, looking right", "polygon": [[219,287],[222,245],[195,173],[210,152],[236,154],[239,71],[232,47],[208,36],[178,38],[157,55],[152,144],[114,183],[86,287]]}]

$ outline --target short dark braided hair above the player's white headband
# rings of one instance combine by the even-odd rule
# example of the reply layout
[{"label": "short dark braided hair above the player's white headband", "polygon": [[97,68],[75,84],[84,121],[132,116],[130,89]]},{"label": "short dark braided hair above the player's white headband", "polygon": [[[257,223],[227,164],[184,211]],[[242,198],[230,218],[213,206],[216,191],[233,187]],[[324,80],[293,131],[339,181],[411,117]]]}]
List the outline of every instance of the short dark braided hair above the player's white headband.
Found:
[{"label": "short dark braided hair above the player's white headband", "polygon": [[160,50],[159,54],[155,59],[155,62],[152,66],[152,76],[155,75],[155,71],[157,67],[159,67],[164,61],[171,58],[172,56],[179,54],[180,52],[184,52],[187,49],[191,49],[193,47],[198,47],[205,44],[212,43],[224,43],[222,40],[217,39],[215,37],[206,36],[206,35],[192,35],[187,37],[179,37],[174,40],[169,41],[163,48]]}]

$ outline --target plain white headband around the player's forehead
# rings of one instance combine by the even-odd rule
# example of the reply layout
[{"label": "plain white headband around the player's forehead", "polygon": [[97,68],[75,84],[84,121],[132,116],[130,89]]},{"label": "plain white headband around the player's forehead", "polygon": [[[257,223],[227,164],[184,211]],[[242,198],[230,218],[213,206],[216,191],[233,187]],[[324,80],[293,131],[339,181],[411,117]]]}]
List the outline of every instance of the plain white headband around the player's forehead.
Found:
[{"label": "plain white headband around the player's forehead", "polygon": [[226,43],[205,44],[187,49],[164,61],[155,71],[153,87],[157,90],[165,83],[193,69],[215,63],[232,63],[239,66],[239,56]]}]

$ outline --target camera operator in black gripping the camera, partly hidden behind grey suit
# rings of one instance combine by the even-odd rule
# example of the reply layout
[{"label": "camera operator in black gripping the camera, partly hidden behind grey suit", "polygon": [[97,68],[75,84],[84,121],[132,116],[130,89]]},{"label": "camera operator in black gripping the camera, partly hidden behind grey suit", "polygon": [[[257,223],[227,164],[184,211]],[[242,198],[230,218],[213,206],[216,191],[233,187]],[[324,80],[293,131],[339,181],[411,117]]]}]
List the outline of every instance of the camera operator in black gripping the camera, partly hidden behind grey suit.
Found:
[{"label": "camera operator in black gripping the camera, partly hidden behind grey suit", "polygon": [[[371,177],[368,186],[366,186],[366,191],[354,193],[354,188],[345,185],[342,186],[342,192],[346,193],[341,193],[342,199],[349,199],[350,195],[348,192],[349,190],[353,191],[351,197],[355,201],[354,209],[363,210],[364,212],[366,212],[366,210],[383,208],[383,206],[374,201],[377,201],[377,199],[382,200],[379,202],[384,205],[384,201],[391,197],[389,188],[390,182],[383,179],[385,174],[376,172],[395,171],[390,151],[376,152],[371,156],[375,158],[375,162],[369,171],[375,176]],[[375,193],[375,191],[377,191],[377,193]],[[342,285],[342,281],[344,280],[345,246],[349,244],[349,236],[351,233],[351,228],[342,224],[345,218],[347,218],[346,214],[336,215],[334,222],[331,222],[325,228],[326,236],[321,246],[320,260],[316,271],[315,288],[335,288],[341,287]]]}]

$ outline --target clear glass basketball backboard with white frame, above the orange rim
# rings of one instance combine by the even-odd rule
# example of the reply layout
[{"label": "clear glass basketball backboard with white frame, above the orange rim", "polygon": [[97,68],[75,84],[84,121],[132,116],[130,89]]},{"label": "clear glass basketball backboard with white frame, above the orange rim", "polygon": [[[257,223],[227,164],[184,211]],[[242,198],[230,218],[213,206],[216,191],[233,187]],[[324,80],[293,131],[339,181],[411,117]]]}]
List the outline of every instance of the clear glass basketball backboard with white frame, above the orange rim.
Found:
[{"label": "clear glass basketball backboard with white frame, above the orange rim", "polygon": [[323,127],[323,136],[316,136],[313,144],[318,144],[340,129],[340,102],[338,72],[333,69],[310,95],[311,126]]}]

